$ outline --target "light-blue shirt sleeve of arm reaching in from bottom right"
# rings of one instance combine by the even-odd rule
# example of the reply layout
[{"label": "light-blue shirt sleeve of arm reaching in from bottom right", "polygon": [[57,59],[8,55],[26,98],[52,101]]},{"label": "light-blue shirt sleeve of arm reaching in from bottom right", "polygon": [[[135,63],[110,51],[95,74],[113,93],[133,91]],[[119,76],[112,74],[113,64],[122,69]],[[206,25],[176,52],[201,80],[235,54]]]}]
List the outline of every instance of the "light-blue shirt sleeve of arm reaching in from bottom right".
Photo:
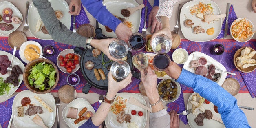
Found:
[{"label": "light-blue shirt sleeve of arm reaching in from bottom right", "polygon": [[182,69],[177,82],[193,88],[194,92],[216,105],[227,128],[250,128],[245,114],[237,106],[236,98],[216,82],[185,69]]}]

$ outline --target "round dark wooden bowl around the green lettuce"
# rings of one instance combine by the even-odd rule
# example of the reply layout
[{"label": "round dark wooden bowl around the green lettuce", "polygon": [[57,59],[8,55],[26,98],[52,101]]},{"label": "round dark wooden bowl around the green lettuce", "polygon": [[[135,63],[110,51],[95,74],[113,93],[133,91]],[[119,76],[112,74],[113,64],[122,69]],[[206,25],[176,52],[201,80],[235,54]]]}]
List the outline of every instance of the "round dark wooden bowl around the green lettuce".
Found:
[{"label": "round dark wooden bowl around the green lettuce", "polygon": [[[51,64],[55,70],[56,70],[56,80],[55,80],[55,84],[49,89],[49,90],[39,90],[38,88],[35,88],[34,86],[30,86],[29,81],[28,81],[28,77],[30,75],[29,70],[32,68],[32,66],[34,66],[36,63],[40,63],[40,62],[46,62],[47,64]],[[23,81],[25,86],[33,93],[37,93],[37,94],[45,94],[45,93],[49,93],[51,90],[53,90],[59,81],[59,71],[58,68],[55,64],[53,64],[53,62],[51,62],[48,59],[43,59],[43,58],[39,58],[39,59],[35,59],[32,60],[31,62],[29,62],[29,64],[26,65],[24,71],[23,71]]]}]

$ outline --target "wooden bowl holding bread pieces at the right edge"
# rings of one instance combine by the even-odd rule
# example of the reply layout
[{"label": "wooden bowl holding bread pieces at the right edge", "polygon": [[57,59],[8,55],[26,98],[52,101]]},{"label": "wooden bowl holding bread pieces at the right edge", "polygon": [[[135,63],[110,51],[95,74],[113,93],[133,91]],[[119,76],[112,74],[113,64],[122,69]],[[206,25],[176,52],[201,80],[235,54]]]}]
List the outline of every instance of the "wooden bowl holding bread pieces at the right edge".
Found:
[{"label": "wooden bowl holding bread pieces at the right edge", "polygon": [[[245,49],[245,47],[242,47],[242,48],[240,48],[240,49],[238,49],[238,50],[236,51],[236,53],[235,53],[235,55],[234,55],[234,65],[236,66],[236,68],[237,68],[239,71],[244,72],[244,73],[250,73],[250,72],[252,72],[252,71],[254,71],[254,70],[256,69],[256,65],[250,66],[250,67],[245,68],[245,69],[241,69],[240,67],[238,67],[238,66],[236,65],[236,58],[237,58],[237,57],[240,57],[241,51],[242,51],[243,49]],[[255,50],[252,49],[252,48],[250,48],[250,49],[251,49],[251,51],[255,51]],[[252,59],[256,59],[256,54],[252,57]]]}]

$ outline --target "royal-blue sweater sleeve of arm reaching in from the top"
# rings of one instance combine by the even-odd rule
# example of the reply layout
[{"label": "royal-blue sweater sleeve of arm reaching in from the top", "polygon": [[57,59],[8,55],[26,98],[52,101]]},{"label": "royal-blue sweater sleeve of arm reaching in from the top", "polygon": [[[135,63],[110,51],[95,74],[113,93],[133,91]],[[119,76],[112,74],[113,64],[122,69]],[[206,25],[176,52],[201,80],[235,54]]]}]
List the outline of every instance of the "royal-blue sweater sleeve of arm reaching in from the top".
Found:
[{"label": "royal-blue sweater sleeve of arm reaching in from the top", "polygon": [[121,21],[112,15],[106,6],[103,6],[102,0],[81,0],[81,2],[87,11],[93,15],[99,23],[108,26],[115,32]]}]

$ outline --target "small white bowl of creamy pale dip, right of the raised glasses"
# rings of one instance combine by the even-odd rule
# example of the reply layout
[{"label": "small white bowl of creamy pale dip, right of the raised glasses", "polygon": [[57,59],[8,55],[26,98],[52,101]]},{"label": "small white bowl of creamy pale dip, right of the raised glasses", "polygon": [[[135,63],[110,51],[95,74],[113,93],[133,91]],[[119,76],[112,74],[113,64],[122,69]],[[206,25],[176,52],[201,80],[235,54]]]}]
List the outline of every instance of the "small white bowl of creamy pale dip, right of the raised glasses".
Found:
[{"label": "small white bowl of creamy pale dip, right of the raised glasses", "polygon": [[[183,55],[182,55],[183,54]],[[179,56],[181,55],[181,56]],[[179,61],[179,60],[183,61]],[[185,49],[179,48],[172,53],[172,60],[176,64],[184,64],[188,60],[188,52]]]}]

